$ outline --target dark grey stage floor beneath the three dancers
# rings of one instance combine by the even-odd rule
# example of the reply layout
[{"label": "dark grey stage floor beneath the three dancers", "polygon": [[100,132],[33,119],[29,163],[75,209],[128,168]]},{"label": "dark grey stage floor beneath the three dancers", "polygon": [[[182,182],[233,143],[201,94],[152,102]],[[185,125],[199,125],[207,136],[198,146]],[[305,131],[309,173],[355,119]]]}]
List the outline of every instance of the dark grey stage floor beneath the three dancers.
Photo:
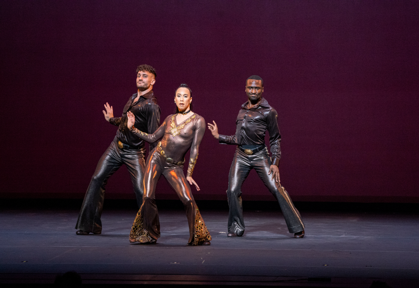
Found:
[{"label": "dark grey stage floor beneath the three dancers", "polygon": [[416,213],[301,211],[306,236],[294,239],[278,210],[247,210],[245,235],[228,238],[228,211],[202,209],[211,246],[186,246],[185,213],[167,208],[160,210],[157,244],[129,244],[135,214],[132,209],[105,209],[103,233],[78,236],[77,210],[3,209],[0,281],[19,278],[15,273],[34,278],[33,273],[55,275],[69,270],[91,283],[100,279],[240,283],[247,279],[253,284],[279,285],[284,280],[297,285],[311,279],[313,285],[325,281],[332,287],[339,279],[357,278],[352,286],[335,287],[369,287],[370,280],[378,278],[387,279],[391,287],[406,287],[419,279]]}]

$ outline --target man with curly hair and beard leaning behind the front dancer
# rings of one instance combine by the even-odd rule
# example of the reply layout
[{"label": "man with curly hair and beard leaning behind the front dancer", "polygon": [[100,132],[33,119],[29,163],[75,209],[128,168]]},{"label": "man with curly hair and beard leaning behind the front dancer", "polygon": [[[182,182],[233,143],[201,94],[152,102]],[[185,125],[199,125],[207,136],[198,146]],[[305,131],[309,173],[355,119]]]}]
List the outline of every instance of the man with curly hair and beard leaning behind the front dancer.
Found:
[{"label": "man with curly hair and beard leaning behind the front dancer", "polygon": [[[122,164],[127,166],[131,176],[134,193],[137,197],[137,205],[141,207],[144,193],[143,179],[145,169],[144,140],[141,140],[127,127],[127,112],[135,116],[135,127],[147,133],[154,133],[160,126],[160,107],[153,93],[156,72],[150,65],[137,67],[137,93],[128,100],[122,112],[122,117],[114,117],[114,110],[108,103],[103,110],[106,121],[118,126],[114,141],[103,153],[96,166],[96,171],[87,188],[83,205],[77,220],[76,229],[78,235],[89,233],[101,234],[101,214],[105,197],[105,185],[109,177],[115,173]],[[150,143],[150,150],[155,148],[156,143]]]}]

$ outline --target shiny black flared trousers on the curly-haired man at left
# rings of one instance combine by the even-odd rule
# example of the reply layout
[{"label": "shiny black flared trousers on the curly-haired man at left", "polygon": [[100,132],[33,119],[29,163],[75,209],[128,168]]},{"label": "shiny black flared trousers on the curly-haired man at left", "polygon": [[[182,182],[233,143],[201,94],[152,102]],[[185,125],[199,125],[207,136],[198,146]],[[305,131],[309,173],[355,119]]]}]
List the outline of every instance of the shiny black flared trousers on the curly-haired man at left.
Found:
[{"label": "shiny black flared trousers on the curly-haired man at left", "polygon": [[101,215],[105,198],[105,185],[109,177],[125,164],[131,176],[132,187],[137,197],[138,207],[142,204],[144,194],[143,178],[145,169],[145,150],[126,150],[118,147],[115,137],[100,158],[92,176],[83,205],[80,209],[76,229],[100,234],[102,231]]}]

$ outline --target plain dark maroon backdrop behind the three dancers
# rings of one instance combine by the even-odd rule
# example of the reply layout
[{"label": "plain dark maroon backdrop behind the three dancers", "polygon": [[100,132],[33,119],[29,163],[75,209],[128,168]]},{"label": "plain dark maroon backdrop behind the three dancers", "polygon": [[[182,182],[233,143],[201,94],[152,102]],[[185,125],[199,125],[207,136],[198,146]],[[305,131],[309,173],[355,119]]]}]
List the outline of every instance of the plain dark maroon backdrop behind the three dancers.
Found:
[{"label": "plain dark maroon backdrop behind the three dancers", "polygon": [[[195,112],[235,132],[249,75],[279,115],[294,200],[417,200],[417,1],[3,1],[1,195],[83,197],[136,91],[157,70],[161,119],[187,83]],[[207,130],[197,199],[226,199],[235,147]],[[107,197],[133,198],[125,168]],[[273,199],[254,171],[244,199]],[[160,179],[157,197],[176,195]],[[412,200],[413,199],[413,200]]]}]

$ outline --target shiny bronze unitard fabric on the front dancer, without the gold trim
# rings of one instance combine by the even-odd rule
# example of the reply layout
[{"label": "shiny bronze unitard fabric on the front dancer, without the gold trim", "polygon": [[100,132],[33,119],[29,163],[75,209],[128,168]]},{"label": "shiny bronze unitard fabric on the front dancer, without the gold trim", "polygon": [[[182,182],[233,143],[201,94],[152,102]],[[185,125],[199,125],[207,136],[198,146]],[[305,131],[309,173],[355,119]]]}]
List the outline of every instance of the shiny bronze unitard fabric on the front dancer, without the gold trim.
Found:
[{"label": "shiny bronze unitard fabric on the front dancer, without the gold trim", "polygon": [[[152,135],[146,135],[145,133],[135,133],[135,135],[147,142],[155,142],[162,138],[160,148],[164,150],[167,157],[172,158],[174,162],[183,161],[189,148],[191,149],[190,157],[194,159],[198,155],[199,144],[204,137],[206,128],[204,118],[196,113],[191,115],[191,117],[194,115],[195,117],[191,119],[189,123],[186,123],[179,135],[173,136],[171,134],[171,118],[173,114],[169,115]],[[185,121],[191,117],[188,117]],[[174,124],[176,126],[184,122],[177,123],[176,117],[174,119]],[[138,127],[136,128],[139,129]],[[186,161],[186,163],[187,162],[188,161]],[[197,215],[197,205],[192,196],[191,187],[186,180],[183,167],[174,163],[168,163],[161,155],[158,147],[156,147],[147,158],[144,176],[145,194],[140,209],[143,227],[153,239],[157,240],[160,237],[160,223],[158,222],[157,206],[155,205],[155,188],[158,179],[162,174],[184,204],[186,218],[188,219],[189,224],[188,244],[191,244],[194,241],[194,220]]]}]

